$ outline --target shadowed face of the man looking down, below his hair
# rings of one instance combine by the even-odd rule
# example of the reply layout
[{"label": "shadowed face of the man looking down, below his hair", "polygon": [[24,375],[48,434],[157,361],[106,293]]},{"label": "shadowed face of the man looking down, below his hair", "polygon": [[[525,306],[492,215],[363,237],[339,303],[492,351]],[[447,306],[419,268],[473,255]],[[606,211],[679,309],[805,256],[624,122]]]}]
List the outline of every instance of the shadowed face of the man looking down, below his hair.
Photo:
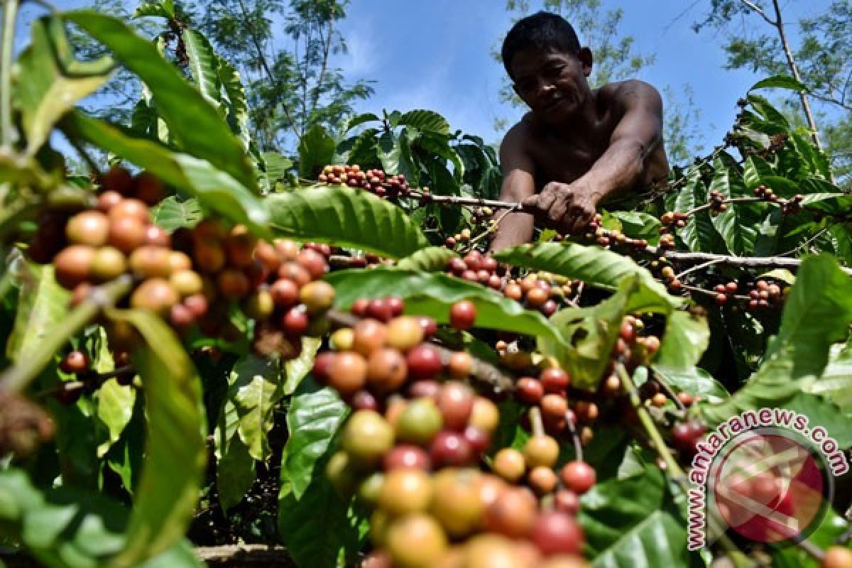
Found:
[{"label": "shadowed face of the man looking down, below his hair", "polygon": [[586,82],[591,72],[588,50],[579,56],[520,51],[512,58],[510,68],[515,93],[547,122],[569,118],[591,94]]}]

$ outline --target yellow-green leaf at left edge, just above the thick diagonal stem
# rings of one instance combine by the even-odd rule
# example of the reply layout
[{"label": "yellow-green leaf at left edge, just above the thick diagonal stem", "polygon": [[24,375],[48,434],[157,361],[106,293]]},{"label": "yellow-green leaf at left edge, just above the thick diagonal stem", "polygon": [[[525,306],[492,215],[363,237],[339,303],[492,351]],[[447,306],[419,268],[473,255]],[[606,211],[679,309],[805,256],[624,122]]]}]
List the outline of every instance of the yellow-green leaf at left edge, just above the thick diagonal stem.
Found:
[{"label": "yellow-green leaf at left edge, just above the thick diagonal stem", "polygon": [[69,294],[56,283],[53,265],[20,266],[25,273],[20,278],[14,328],[6,343],[6,356],[11,361],[26,360],[68,311]]}]

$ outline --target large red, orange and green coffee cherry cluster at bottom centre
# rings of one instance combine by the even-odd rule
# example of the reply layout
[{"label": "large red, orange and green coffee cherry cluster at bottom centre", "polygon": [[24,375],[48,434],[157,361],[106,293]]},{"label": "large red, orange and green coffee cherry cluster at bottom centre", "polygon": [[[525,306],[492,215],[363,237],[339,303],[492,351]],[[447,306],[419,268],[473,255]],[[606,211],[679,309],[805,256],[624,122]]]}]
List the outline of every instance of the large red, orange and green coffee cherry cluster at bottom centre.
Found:
[{"label": "large red, orange and green coffee cherry cluster at bottom centre", "polygon": [[[492,473],[482,471],[497,406],[466,383],[474,370],[469,353],[435,347],[435,320],[403,309],[395,297],[356,302],[350,311],[359,319],[334,331],[333,351],[314,364],[314,376],[354,409],[326,473],[371,512],[374,549],[362,566],[584,565],[577,496],[562,500],[571,513],[542,510],[535,492],[515,485],[538,479],[539,463],[555,464],[556,441],[548,437],[544,449],[538,439],[529,443],[520,475],[497,462]],[[450,308],[453,328],[469,329],[475,318],[469,301]]]}]

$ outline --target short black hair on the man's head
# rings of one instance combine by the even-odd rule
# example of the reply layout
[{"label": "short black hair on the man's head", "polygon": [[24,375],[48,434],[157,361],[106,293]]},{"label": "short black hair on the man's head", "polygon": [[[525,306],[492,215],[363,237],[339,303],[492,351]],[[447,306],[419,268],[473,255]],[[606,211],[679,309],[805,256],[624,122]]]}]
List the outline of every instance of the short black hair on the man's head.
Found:
[{"label": "short black hair on the man's head", "polygon": [[561,15],[537,12],[518,20],[503,40],[500,56],[509,77],[512,76],[512,70],[509,69],[512,58],[525,49],[577,55],[580,51],[580,41],[573,26]]}]

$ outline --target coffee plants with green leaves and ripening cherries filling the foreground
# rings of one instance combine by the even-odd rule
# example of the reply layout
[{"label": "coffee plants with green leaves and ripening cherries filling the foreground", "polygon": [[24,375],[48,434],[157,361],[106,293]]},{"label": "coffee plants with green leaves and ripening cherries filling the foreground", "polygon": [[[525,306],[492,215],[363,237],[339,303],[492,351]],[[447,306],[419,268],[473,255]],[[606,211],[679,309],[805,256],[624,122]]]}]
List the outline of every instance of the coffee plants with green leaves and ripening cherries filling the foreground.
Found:
[{"label": "coffee plants with green leaves and ripening cherries filling the foreground", "polygon": [[[492,255],[518,205],[481,139],[414,110],[261,152],[233,67],[171,3],[137,15],[170,43],[49,11],[0,77],[7,557],[852,566],[849,475],[802,542],[687,547],[728,417],[796,410],[852,446],[852,196],[756,92],[801,85],[757,83],[634,209]],[[75,106],[118,66],[145,85],[130,125]]]}]

